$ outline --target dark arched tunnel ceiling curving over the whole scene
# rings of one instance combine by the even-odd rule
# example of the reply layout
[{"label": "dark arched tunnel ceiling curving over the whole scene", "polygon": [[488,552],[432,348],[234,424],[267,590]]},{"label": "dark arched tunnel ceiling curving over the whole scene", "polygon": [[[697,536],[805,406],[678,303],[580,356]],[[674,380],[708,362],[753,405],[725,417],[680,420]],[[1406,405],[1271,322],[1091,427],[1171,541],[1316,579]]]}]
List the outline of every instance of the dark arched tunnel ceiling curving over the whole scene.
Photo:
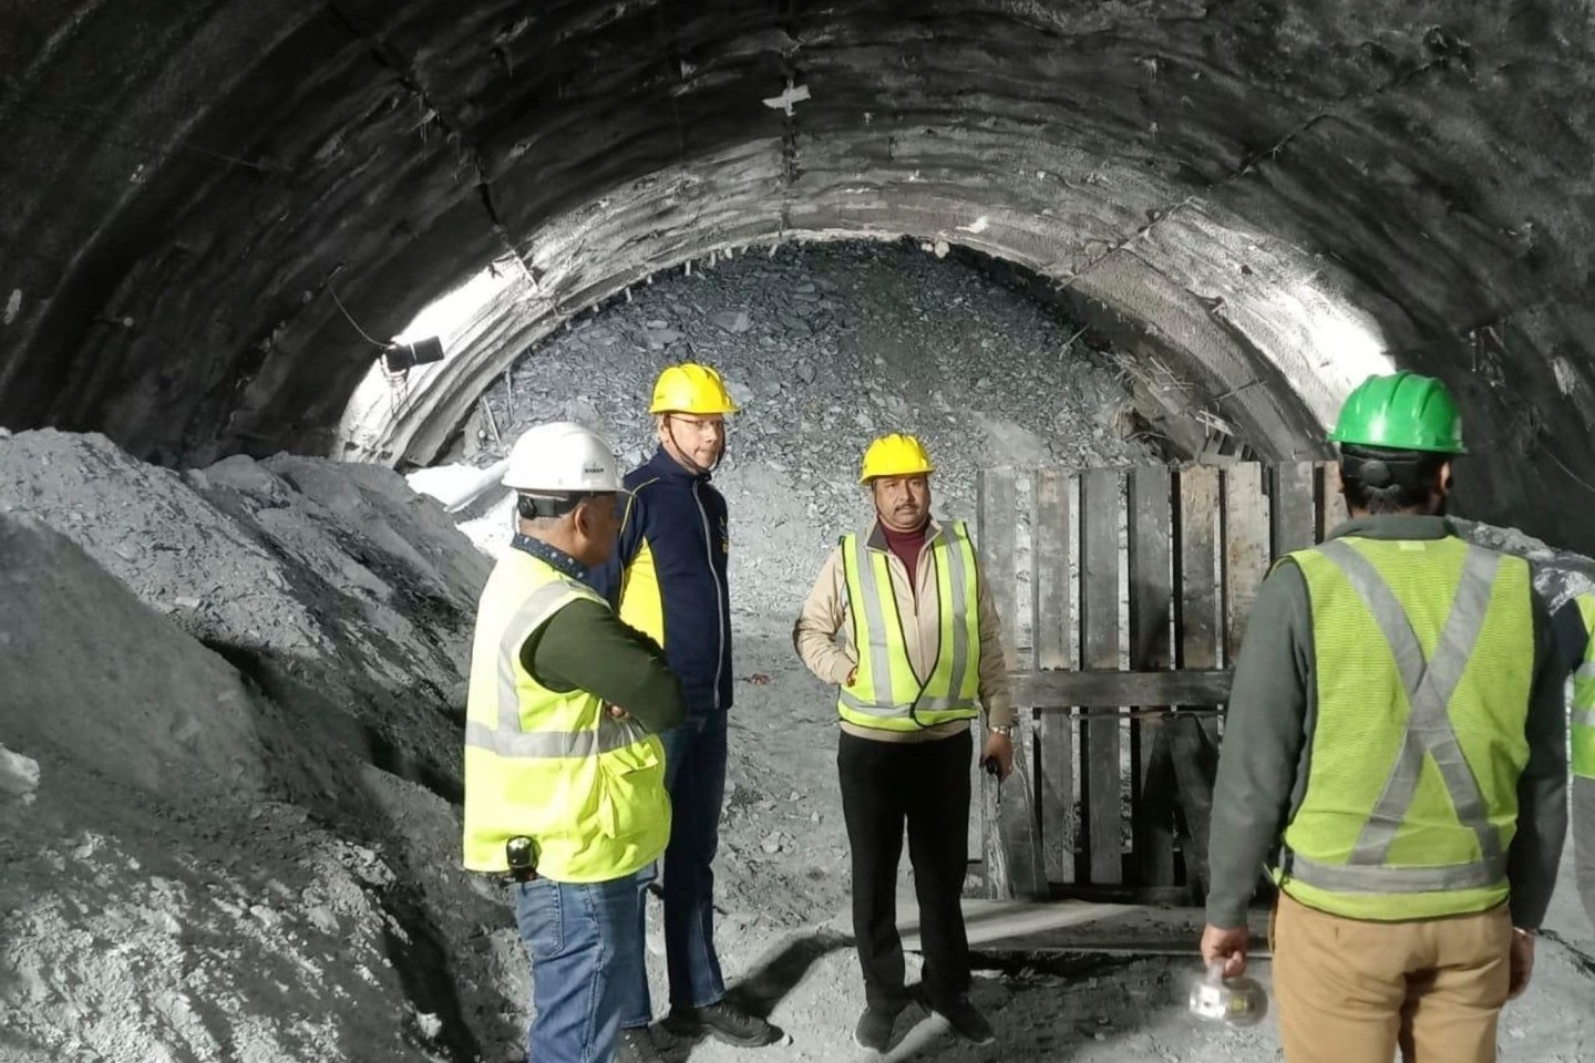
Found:
[{"label": "dark arched tunnel ceiling curving over the whole scene", "polygon": [[[798,234],[1019,261],[1314,451],[1365,316],[1469,410],[1469,510],[1595,550],[1579,0],[6,5],[0,424],[325,451],[378,336],[488,260],[384,457],[651,269]],[[1338,308],[1338,309],[1337,309]],[[1260,386],[1252,386],[1257,381]],[[1228,394],[1227,394],[1228,392]],[[1466,489],[1467,484],[1471,489]]]}]

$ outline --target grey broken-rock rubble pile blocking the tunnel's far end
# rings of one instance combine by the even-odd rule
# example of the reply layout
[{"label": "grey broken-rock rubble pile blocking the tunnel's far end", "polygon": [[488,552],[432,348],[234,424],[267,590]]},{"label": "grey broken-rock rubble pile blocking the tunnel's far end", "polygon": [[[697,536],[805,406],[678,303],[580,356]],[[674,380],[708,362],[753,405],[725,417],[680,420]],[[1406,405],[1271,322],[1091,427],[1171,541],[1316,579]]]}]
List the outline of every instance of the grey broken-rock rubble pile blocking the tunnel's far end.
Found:
[{"label": "grey broken-rock rubble pile blocking the tunnel's far end", "polygon": [[[908,242],[785,244],[659,274],[517,360],[488,389],[493,414],[467,433],[480,448],[469,456],[502,456],[531,424],[569,419],[630,467],[656,445],[654,378],[683,360],[716,367],[742,405],[715,481],[745,610],[794,610],[825,550],[868,520],[858,462],[880,433],[924,438],[936,512],[971,521],[983,467],[1160,459],[1132,437],[1120,370],[1069,320]],[[504,521],[494,512],[483,537]]]}]

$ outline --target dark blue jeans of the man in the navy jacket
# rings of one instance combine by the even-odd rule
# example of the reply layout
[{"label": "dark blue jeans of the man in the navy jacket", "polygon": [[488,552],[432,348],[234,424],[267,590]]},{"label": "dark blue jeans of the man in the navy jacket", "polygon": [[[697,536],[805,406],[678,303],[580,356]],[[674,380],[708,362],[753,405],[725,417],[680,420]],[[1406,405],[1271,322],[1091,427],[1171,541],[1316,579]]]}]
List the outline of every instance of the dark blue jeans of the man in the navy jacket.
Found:
[{"label": "dark blue jeans of the man in the navy jacket", "polygon": [[[715,955],[715,853],[719,810],[726,800],[726,714],[689,716],[660,739],[665,743],[665,786],[670,789],[670,846],[665,849],[665,969],[670,1007],[707,1007],[726,996]],[[643,916],[638,915],[638,932]],[[646,1026],[652,1018],[648,972],[638,967],[620,1025]],[[539,1063],[542,1063],[539,1060]]]}]

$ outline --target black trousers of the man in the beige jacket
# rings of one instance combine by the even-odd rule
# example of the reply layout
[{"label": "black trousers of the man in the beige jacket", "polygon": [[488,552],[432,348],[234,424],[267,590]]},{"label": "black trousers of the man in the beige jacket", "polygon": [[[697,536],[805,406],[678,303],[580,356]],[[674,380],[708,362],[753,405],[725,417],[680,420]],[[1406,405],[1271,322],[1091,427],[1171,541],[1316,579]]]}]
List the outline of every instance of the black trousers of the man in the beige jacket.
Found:
[{"label": "black trousers of the man in the beige jacket", "polygon": [[919,896],[925,998],[939,1010],[970,988],[970,942],[959,897],[970,857],[971,752],[968,732],[925,743],[842,733],[836,767],[853,851],[853,934],[871,1007],[898,1009],[908,998],[896,931],[904,824]]}]

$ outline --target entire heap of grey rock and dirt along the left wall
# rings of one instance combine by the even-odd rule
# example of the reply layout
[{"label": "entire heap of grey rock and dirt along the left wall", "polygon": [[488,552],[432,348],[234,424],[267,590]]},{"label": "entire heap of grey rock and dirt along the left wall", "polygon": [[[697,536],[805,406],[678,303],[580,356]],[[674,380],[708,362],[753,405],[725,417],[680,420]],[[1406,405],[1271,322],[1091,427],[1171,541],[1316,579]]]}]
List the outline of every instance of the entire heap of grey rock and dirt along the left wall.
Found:
[{"label": "entire heap of grey rock and dirt along the left wall", "polygon": [[0,1055],[512,1044],[451,805],[485,577],[383,469],[0,440]]}]

